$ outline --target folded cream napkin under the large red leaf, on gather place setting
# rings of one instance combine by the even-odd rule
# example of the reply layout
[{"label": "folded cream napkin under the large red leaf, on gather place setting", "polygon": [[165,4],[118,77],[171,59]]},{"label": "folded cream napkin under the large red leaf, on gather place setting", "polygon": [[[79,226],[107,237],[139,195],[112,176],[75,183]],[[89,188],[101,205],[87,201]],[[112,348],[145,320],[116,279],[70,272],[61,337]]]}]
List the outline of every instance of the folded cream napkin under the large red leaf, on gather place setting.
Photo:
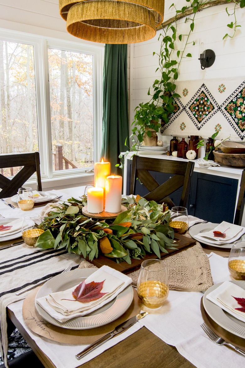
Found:
[{"label": "folded cream napkin under the large red leaf, on gather place setting", "polygon": [[[105,281],[104,281],[105,280]],[[71,318],[84,316],[102,307],[114,299],[125,287],[131,284],[132,279],[123,273],[108,266],[102,266],[87,277],[85,283],[104,281],[101,293],[106,293],[100,299],[89,302],[79,302],[72,296],[72,291],[78,286],[68,290],[52,293],[47,297],[37,299],[37,303],[57,321],[65,322]],[[68,299],[68,300],[64,300]]]}]

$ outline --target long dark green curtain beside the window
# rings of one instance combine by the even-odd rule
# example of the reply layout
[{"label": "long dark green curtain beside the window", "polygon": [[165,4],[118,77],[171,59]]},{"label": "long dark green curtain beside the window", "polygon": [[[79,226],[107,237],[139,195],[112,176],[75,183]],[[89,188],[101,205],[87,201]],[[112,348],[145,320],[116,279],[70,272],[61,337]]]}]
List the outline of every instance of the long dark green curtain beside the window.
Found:
[{"label": "long dark green curtain beside the window", "polygon": [[120,152],[129,142],[127,45],[105,45],[101,158],[111,163],[111,174],[122,175]]}]

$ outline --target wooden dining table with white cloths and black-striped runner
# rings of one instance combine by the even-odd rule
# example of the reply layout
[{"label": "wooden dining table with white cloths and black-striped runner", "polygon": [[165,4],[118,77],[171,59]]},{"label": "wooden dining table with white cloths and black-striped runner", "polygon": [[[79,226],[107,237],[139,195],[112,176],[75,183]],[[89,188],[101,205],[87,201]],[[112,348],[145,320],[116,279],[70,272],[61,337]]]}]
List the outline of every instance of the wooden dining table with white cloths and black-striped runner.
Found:
[{"label": "wooden dining table with white cloths and black-striped runner", "polygon": [[[55,194],[53,204],[59,204],[71,197],[79,199],[84,194],[84,187],[51,192]],[[58,199],[60,196],[62,197]],[[11,203],[9,199],[6,200]],[[28,213],[40,213],[43,208],[44,205],[40,204],[34,206]],[[1,216],[18,218],[25,214],[26,212],[18,207],[11,208],[0,201],[0,219]],[[4,275],[2,280],[6,279],[0,289],[1,350],[5,364],[8,343],[7,322],[10,318],[47,368],[230,368],[244,365],[244,356],[226,346],[216,345],[203,332],[200,308],[203,291],[190,290],[170,290],[167,301],[159,309],[148,309],[141,305],[141,312],[147,311],[147,316],[81,360],[77,360],[75,355],[89,345],[86,341],[83,344],[55,342],[28,327],[22,307],[25,299],[30,298],[30,293],[34,295],[40,286],[19,296],[16,293],[42,280],[45,282],[48,277],[58,275],[68,265],[72,270],[76,270],[84,259],[65,250],[42,250],[28,247],[26,244],[1,250],[2,246],[18,240],[21,238],[0,242],[0,273]],[[227,266],[229,249],[204,245],[203,250],[210,263],[213,283],[232,280]],[[4,316],[5,309],[6,316]],[[40,329],[44,328],[45,321],[35,322],[40,325]]]}]

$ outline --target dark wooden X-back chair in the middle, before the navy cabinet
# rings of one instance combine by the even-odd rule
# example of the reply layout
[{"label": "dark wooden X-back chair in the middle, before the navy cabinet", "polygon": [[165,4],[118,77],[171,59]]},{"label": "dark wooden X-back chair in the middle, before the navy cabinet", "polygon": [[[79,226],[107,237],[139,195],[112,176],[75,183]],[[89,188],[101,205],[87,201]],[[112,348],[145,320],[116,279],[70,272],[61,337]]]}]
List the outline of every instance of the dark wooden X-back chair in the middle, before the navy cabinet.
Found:
[{"label": "dark wooden X-back chair in the middle, before the navy cabinet", "polygon": [[[137,194],[135,190],[138,178],[145,188],[149,190],[149,193],[143,196],[147,201],[164,202],[170,208],[175,205],[186,207],[193,170],[194,162],[191,161],[161,160],[135,155],[133,156],[130,194]],[[174,174],[174,176],[160,185],[149,171]],[[169,195],[182,186],[180,203],[174,204]]]}]

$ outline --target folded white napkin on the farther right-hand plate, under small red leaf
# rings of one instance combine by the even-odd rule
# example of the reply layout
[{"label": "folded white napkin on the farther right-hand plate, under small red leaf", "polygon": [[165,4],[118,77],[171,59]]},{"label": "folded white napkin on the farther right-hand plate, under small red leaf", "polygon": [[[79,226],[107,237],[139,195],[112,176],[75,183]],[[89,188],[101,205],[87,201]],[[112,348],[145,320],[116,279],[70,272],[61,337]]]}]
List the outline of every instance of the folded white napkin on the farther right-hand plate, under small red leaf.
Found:
[{"label": "folded white napkin on the farther right-hand plate, under small red leaf", "polygon": [[[215,237],[213,231],[220,231],[225,233],[226,237]],[[198,233],[196,237],[200,240],[204,240],[214,244],[230,244],[235,240],[238,240],[245,233],[245,228],[242,226],[230,224],[226,221],[221,222],[215,229],[207,231],[205,233]]]}]

